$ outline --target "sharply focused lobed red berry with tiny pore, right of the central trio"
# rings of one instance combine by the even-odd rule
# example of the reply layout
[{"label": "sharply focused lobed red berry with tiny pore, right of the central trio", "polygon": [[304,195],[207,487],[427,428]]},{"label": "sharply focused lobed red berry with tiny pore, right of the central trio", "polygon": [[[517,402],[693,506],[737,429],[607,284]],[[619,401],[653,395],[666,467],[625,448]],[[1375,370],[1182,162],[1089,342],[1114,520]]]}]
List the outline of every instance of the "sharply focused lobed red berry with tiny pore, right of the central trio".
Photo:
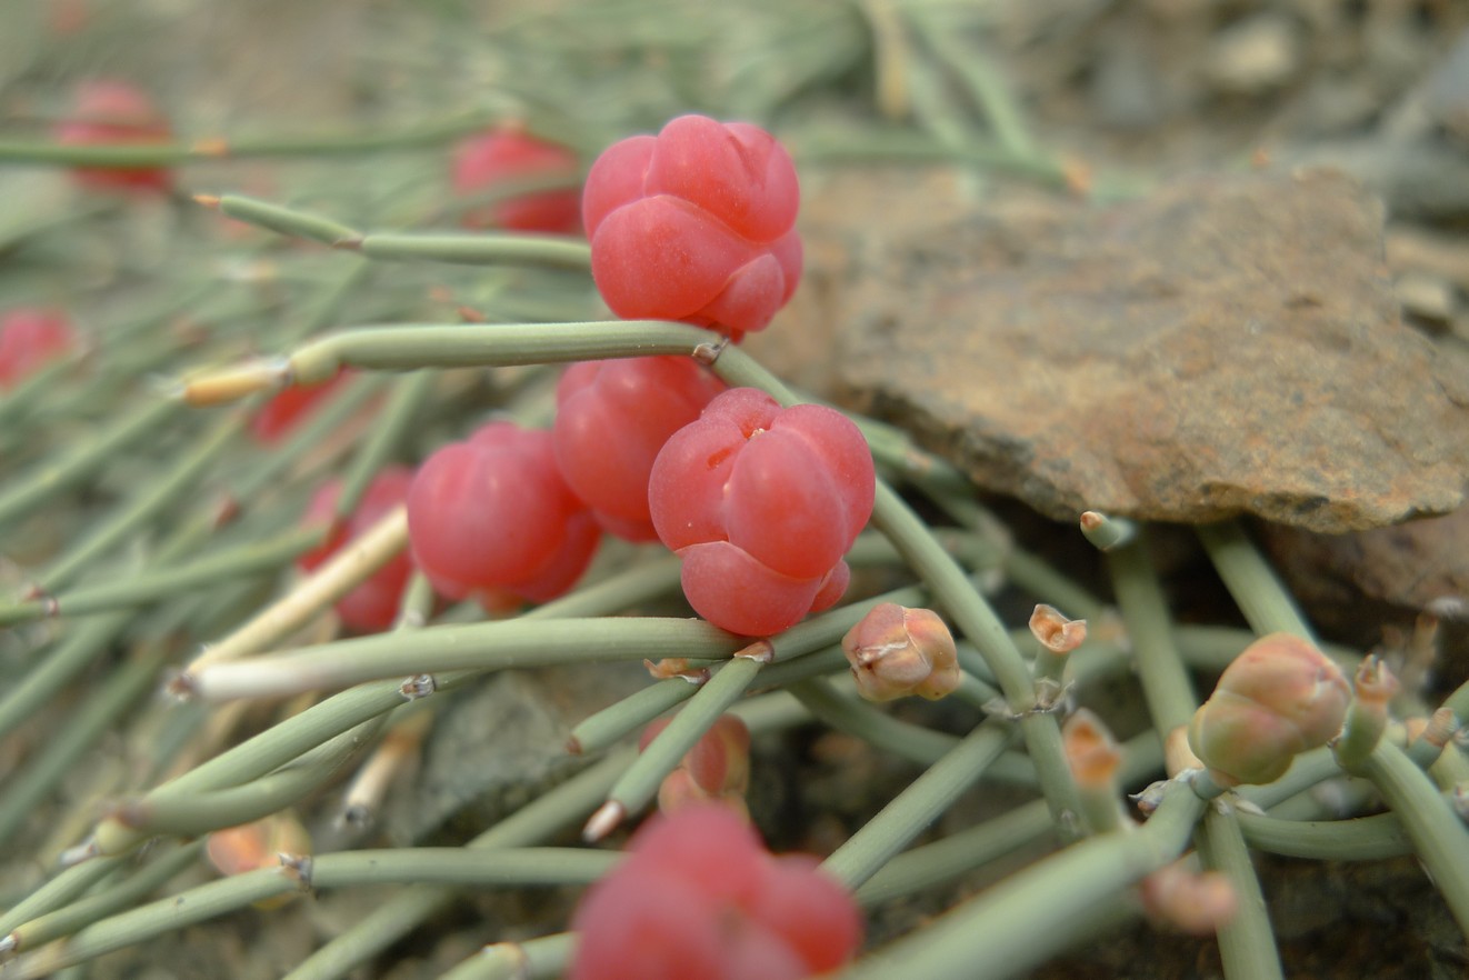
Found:
[{"label": "sharply focused lobed red berry with tiny pore, right of the central trio", "polygon": [[846,591],[842,560],[873,513],[873,455],[824,406],[733,388],[668,439],[648,483],[683,594],[715,626],[768,636]]}]

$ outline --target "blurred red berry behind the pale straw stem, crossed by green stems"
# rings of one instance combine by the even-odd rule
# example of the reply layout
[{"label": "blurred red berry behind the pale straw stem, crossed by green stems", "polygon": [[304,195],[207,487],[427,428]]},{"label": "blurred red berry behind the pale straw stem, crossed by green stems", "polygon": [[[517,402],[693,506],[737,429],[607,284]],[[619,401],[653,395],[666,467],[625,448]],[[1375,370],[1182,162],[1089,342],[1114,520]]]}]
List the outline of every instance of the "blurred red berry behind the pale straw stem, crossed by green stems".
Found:
[{"label": "blurred red berry behind the pale straw stem, crossed by green stems", "polygon": [[[297,560],[307,572],[322,566],[350,539],[361,535],[379,520],[408,498],[408,485],[413,482],[413,472],[404,466],[389,466],[378,473],[361,502],[353,516],[342,523],[335,523],[326,541],[313,551]],[[322,485],[311,497],[311,504],[306,510],[306,520],[328,522],[336,513],[336,498],[341,497],[342,482],[331,480]],[[348,592],[336,604],[336,614],[350,629],[361,632],[378,632],[392,626],[398,617],[398,602],[403,589],[408,583],[413,572],[413,560],[407,551],[395,555],[388,564],[375,572],[366,582]]]}]

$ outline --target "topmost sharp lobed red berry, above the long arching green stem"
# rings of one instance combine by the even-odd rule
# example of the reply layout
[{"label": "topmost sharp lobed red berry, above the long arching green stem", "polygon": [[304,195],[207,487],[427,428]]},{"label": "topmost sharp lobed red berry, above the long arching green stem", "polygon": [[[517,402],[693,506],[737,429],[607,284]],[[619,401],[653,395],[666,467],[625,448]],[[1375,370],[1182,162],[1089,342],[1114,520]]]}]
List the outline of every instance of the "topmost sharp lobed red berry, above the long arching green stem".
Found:
[{"label": "topmost sharp lobed red berry, above the long arching green stem", "polygon": [[795,165],[768,132],[680,116],[592,165],[582,195],[592,278],[621,317],[739,341],[770,323],[801,279],[799,200]]}]

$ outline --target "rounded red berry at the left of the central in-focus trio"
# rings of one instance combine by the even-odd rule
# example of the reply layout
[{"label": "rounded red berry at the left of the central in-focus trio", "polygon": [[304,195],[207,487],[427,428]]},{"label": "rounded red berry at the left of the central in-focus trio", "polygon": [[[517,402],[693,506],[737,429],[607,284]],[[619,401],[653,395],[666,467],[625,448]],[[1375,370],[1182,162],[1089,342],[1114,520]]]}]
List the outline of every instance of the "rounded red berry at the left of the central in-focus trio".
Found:
[{"label": "rounded red berry at the left of the central in-focus trio", "polygon": [[436,451],[408,492],[413,555],[452,599],[552,599],[586,570],[599,536],[557,470],[551,433],[510,422]]}]

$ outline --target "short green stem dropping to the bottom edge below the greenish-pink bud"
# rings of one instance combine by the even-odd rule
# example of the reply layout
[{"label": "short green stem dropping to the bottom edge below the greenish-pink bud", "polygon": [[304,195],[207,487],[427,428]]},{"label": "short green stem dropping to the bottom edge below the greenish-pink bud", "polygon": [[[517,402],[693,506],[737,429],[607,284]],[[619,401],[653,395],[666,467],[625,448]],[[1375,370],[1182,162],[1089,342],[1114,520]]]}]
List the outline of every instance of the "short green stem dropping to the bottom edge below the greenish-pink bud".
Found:
[{"label": "short green stem dropping to the bottom edge below the greenish-pink bud", "polygon": [[1284,977],[1260,880],[1234,814],[1209,807],[1194,830],[1194,842],[1205,867],[1221,871],[1234,889],[1234,915],[1218,930],[1224,976],[1238,980]]}]

